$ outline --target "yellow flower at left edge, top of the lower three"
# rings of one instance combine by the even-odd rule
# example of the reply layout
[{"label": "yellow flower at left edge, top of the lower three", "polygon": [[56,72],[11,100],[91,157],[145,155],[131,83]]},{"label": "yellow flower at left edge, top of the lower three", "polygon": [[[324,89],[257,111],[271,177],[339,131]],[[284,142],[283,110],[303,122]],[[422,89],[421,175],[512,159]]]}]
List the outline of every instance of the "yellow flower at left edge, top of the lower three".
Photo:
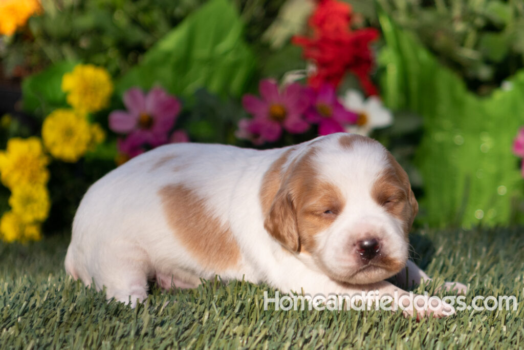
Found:
[{"label": "yellow flower at left edge, top of the lower three", "polygon": [[0,179],[10,189],[28,184],[43,185],[49,180],[48,163],[38,137],[25,140],[13,137],[7,141],[6,150],[0,151]]}]

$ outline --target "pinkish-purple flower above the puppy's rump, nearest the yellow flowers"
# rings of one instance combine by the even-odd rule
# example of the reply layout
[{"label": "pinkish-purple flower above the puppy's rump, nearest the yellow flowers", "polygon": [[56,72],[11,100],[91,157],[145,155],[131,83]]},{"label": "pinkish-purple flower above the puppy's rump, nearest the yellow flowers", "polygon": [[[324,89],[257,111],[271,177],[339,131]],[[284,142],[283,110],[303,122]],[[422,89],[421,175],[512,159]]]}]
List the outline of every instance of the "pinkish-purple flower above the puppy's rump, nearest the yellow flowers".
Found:
[{"label": "pinkish-purple flower above the puppy's rump, nearest the yellow flowers", "polygon": [[124,93],[123,101],[127,111],[113,111],[109,115],[111,130],[133,134],[132,140],[143,140],[152,147],[168,142],[168,133],[180,112],[176,98],[160,87],[152,88],[147,96],[139,88],[130,88]]}]

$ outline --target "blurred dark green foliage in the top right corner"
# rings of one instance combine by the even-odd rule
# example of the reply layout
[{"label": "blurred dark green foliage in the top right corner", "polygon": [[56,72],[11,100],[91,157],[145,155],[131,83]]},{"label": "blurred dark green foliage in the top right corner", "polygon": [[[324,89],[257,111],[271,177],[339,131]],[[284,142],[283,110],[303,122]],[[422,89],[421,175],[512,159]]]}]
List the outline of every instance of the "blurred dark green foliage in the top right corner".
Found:
[{"label": "blurred dark green foliage in the top right corner", "polygon": [[468,89],[485,96],[524,63],[524,3],[503,0],[379,0]]}]

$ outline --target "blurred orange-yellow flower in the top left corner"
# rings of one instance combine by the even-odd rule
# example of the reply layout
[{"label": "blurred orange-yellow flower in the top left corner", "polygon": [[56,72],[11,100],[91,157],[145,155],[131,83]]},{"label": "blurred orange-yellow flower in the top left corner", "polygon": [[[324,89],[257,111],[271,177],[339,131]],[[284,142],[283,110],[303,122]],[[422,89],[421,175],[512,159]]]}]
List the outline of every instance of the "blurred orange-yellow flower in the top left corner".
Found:
[{"label": "blurred orange-yellow flower in the top left corner", "polygon": [[0,0],[0,34],[13,35],[16,28],[40,10],[38,0]]}]

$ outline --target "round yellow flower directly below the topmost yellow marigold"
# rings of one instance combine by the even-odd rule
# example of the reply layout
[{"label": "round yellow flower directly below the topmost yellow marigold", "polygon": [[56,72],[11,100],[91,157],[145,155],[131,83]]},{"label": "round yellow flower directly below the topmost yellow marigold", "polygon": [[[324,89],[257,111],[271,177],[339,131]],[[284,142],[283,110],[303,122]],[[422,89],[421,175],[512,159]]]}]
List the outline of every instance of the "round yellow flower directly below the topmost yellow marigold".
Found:
[{"label": "round yellow flower directly below the topmost yellow marigold", "polygon": [[57,109],[43,121],[42,141],[53,157],[74,163],[93,144],[92,126],[81,112]]}]

